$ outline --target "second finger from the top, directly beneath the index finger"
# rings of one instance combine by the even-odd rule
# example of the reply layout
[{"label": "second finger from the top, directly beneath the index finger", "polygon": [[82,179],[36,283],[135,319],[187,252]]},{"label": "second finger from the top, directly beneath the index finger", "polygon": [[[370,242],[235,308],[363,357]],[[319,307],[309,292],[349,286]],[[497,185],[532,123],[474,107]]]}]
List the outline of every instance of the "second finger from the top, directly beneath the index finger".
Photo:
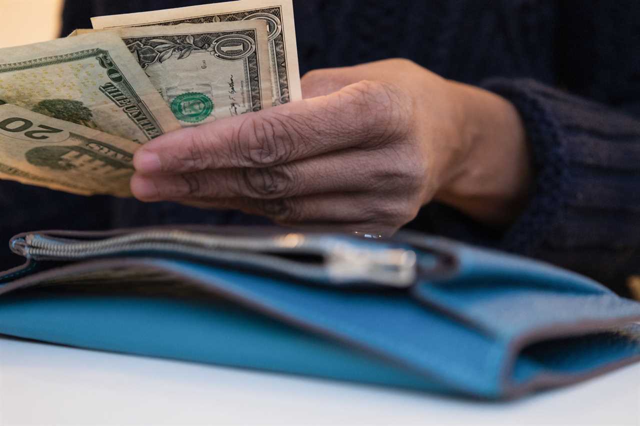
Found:
[{"label": "second finger from the top, directly beneath the index finger", "polygon": [[132,178],[131,190],[143,201],[273,200],[338,191],[389,191],[392,188],[388,186],[398,183],[398,175],[393,166],[378,161],[378,155],[351,150],[268,168],[205,170],[179,175],[137,173]]}]

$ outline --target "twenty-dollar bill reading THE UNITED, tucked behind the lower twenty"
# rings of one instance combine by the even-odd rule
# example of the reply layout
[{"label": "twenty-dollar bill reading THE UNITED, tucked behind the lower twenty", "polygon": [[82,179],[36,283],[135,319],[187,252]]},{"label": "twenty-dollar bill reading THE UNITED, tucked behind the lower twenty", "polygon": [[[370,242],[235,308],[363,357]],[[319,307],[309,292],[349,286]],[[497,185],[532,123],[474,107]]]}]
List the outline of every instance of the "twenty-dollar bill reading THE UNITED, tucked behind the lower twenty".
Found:
[{"label": "twenty-dollar bill reading THE UNITED, tucked behind the lower twenty", "polygon": [[180,129],[118,35],[0,49],[0,100],[145,143]]}]

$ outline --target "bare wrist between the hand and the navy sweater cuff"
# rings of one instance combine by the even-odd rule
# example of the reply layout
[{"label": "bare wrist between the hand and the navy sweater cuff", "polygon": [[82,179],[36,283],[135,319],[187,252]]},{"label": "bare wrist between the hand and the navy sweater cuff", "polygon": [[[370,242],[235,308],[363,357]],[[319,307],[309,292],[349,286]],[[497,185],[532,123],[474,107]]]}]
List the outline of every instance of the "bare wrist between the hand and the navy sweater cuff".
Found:
[{"label": "bare wrist between the hand and the navy sweater cuff", "polygon": [[524,124],[506,99],[467,84],[448,81],[463,155],[435,200],[493,226],[511,223],[527,200],[532,167]]}]

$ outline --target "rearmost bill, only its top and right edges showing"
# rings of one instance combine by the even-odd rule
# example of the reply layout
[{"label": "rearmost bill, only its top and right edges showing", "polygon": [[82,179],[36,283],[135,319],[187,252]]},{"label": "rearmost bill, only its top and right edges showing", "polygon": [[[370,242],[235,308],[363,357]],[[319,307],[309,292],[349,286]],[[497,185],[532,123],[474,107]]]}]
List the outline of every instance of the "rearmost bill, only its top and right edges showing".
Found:
[{"label": "rearmost bill, only its top and right edges showing", "polygon": [[273,105],[302,99],[292,0],[240,0],[92,18],[93,28],[263,20],[268,24]]}]

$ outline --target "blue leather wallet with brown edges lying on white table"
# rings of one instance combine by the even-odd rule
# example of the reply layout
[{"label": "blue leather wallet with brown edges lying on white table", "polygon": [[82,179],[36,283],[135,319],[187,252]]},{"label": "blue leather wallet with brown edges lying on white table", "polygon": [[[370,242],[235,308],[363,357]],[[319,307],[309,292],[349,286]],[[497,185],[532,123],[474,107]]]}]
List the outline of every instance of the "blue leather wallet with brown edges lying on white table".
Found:
[{"label": "blue leather wallet with brown edges lying on white table", "polygon": [[401,233],[23,233],[0,333],[513,398],[640,359],[640,304],[557,267]]}]

